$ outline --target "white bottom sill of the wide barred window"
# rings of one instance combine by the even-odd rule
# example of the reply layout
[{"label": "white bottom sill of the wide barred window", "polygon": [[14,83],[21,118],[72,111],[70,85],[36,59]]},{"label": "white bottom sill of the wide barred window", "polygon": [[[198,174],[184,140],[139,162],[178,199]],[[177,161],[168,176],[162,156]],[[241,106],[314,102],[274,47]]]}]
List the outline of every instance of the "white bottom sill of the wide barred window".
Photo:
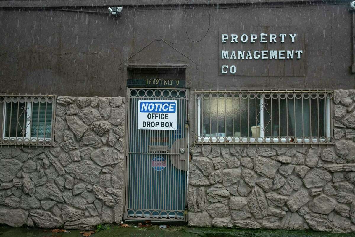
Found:
[{"label": "white bottom sill of the wide barred window", "polygon": [[326,138],[296,138],[296,142],[294,138],[231,138],[231,137],[198,137],[198,143],[238,143],[238,144],[329,144]]}]

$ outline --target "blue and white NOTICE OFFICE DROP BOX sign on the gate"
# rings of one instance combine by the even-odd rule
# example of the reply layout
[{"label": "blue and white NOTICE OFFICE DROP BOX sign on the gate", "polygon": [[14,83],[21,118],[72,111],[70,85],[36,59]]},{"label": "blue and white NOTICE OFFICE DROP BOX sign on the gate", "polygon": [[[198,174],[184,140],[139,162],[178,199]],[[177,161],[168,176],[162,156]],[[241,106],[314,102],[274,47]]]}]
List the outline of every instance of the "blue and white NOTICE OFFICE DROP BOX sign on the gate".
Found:
[{"label": "blue and white NOTICE OFFICE DROP BOX sign on the gate", "polygon": [[178,101],[138,101],[138,129],[176,130]]}]

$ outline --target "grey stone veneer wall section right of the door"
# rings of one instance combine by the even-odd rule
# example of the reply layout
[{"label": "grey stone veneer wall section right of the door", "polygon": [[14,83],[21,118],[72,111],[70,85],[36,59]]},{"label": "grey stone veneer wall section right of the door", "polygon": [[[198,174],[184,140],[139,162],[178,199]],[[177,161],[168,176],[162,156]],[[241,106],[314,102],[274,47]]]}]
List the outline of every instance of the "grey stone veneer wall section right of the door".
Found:
[{"label": "grey stone veneer wall section right of the door", "polygon": [[334,146],[191,147],[189,225],[355,232],[354,98],[334,92]]}]

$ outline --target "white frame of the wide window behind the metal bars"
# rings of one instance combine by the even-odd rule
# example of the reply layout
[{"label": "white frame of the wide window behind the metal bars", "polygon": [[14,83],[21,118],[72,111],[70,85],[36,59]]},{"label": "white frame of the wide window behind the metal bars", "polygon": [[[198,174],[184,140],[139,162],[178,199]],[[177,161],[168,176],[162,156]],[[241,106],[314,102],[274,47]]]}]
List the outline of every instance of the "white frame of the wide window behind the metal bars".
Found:
[{"label": "white frame of the wide window behind the metal bars", "polygon": [[[201,98],[203,99],[203,98]],[[229,138],[229,137],[204,137],[202,141],[201,138],[201,99],[197,99],[197,134],[198,134],[198,138],[197,138],[197,142],[240,142],[240,143],[262,143],[263,139],[264,139],[264,131],[260,131],[260,137],[259,138],[253,138],[253,137],[249,137],[249,138]],[[260,126],[262,128],[264,128],[264,114],[265,114],[265,107],[262,106],[262,104],[264,104],[264,98],[260,99]],[[326,135],[327,135],[327,139],[331,136],[331,118],[330,118],[330,99],[326,98],[326,103],[325,103],[325,111],[324,111],[324,117],[326,117]],[[249,142],[248,142],[249,139]],[[312,144],[312,143],[322,143],[322,142],[326,142],[326,139],[321,138],[320,142],[318,142],[318,138],[313,138],[312,139],[312,143],[310,142],[312,138],[308,139],[305,138],[304,142],[302,142],[302,139],[297,139],[294,143],[295,144]],[[290,144],[291,139],[288,139],[289,142],[287,142],[286,138],[265,138],[265,142],[263,143],[270,143],[270,144]]]}]

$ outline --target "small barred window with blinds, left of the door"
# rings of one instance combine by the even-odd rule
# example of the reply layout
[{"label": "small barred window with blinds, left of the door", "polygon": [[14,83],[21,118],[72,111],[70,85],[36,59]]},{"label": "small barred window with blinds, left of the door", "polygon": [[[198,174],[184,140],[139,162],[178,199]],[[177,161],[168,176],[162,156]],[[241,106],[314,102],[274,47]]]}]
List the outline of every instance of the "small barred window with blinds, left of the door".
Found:
[{"label": "small barred window with blinds, left of the door", "polygon": [[0,145],[53,145],[55,96],[0,95]]}]

